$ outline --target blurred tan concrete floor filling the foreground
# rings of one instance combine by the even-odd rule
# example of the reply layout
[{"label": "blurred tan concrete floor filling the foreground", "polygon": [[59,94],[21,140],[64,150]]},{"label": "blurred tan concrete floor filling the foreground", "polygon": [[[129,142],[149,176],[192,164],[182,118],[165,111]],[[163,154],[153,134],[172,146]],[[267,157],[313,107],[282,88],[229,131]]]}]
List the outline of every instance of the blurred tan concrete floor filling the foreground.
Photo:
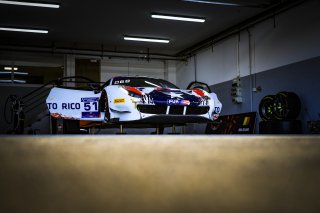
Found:
[{"label": "blurred tan concrete floor filling the foreground", "polygon": [[320,212],[320,137],[1,137],[0,212]]}]

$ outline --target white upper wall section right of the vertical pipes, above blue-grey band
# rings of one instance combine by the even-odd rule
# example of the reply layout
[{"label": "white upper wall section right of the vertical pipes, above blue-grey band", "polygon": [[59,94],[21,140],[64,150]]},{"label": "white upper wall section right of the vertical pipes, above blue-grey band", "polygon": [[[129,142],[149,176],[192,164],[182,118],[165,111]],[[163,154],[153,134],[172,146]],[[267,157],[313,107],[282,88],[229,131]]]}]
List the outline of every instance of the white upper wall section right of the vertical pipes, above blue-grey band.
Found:
[{"label": "white upper wall section right of the vertical pipes, above blue-grey band", "polygon": [[312,1],[253,29],[256,72],[320,55],[320,2]]}]

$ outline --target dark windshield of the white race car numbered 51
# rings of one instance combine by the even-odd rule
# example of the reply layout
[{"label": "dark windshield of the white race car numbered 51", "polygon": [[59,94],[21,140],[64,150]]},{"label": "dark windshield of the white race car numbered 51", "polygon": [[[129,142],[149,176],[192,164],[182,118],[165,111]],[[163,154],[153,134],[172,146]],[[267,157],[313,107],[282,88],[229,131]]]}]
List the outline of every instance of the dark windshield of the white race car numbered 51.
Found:
[{"label": "dark windshield of the white race car numbered 51", "polygon": [[112,85],[125,85],[131,87],[159,87],[159,88],[175,88],[178,89],[174,84],[154,78],[130,78],[130,77],[117,77],[112,81]]}]

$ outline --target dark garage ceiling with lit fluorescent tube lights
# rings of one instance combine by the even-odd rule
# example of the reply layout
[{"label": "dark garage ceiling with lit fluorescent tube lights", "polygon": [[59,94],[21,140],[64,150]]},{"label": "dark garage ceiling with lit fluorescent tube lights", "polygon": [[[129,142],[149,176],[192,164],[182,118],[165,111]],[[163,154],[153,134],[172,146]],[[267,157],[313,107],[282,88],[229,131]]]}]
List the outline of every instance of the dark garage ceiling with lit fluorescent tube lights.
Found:
[{"label": "dark garage ceiling with lit fluorescent tube lights", "polygon": [[[242,6],[182,0],[42,0],[59,9],[0,4],[0,25],[47,29],[48,34],[0,31],[2,47],[148,52],[177,56],[247,20],[270,13],[281,0],[233,1]],[[232,2],[232,1],[219,1]],[[294,1],[288,1],[294,2]],[[152,19],[152,12],[203,17],[205,23]],[[123,35],[170,39],[168,44],[125,41]]]}]

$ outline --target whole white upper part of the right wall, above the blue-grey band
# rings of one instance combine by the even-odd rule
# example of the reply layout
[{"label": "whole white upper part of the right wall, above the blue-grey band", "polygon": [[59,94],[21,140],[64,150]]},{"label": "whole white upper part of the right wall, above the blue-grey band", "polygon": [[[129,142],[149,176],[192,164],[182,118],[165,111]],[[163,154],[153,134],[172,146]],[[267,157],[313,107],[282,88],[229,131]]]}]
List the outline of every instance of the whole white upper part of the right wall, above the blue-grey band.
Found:
[{"label": "whole white upper part of the right wall, above the blue-grey band", "polygon": [[[263,72],[320,56],[320,2],[311,1],[250,28],[252,73]],[[177,62],[177,85],[186,87],[197,80],[209,85],[250,74],[249,33],[242,31],[212,47],[201,50],[189,63]]]}]

